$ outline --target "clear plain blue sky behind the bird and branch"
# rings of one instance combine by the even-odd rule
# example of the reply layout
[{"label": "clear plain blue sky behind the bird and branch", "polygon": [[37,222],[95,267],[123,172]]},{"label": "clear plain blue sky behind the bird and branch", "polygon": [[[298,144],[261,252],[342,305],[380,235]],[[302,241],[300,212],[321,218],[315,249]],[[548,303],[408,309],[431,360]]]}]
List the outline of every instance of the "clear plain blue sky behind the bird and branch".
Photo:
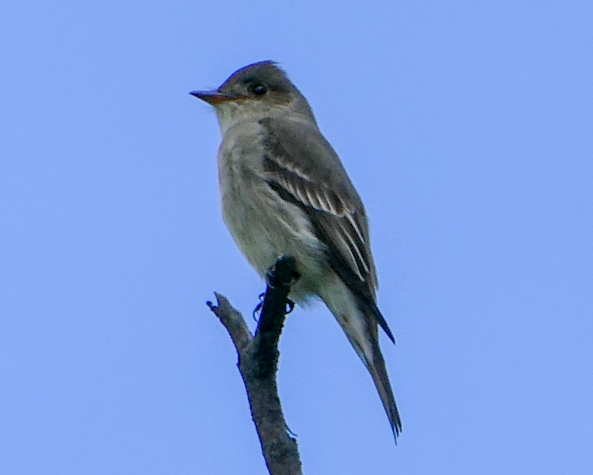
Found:
[{"label": "clear plain blue sky behind the bird and branch", "polygon": [[263,59],[365,200],[398,341],[395,447],[329,312],[289,316],[305,473],[591,473],[593,4],[506,0],[4,2],[0,471],[265,473],[205,305],[263,284],[188,94]]}]

